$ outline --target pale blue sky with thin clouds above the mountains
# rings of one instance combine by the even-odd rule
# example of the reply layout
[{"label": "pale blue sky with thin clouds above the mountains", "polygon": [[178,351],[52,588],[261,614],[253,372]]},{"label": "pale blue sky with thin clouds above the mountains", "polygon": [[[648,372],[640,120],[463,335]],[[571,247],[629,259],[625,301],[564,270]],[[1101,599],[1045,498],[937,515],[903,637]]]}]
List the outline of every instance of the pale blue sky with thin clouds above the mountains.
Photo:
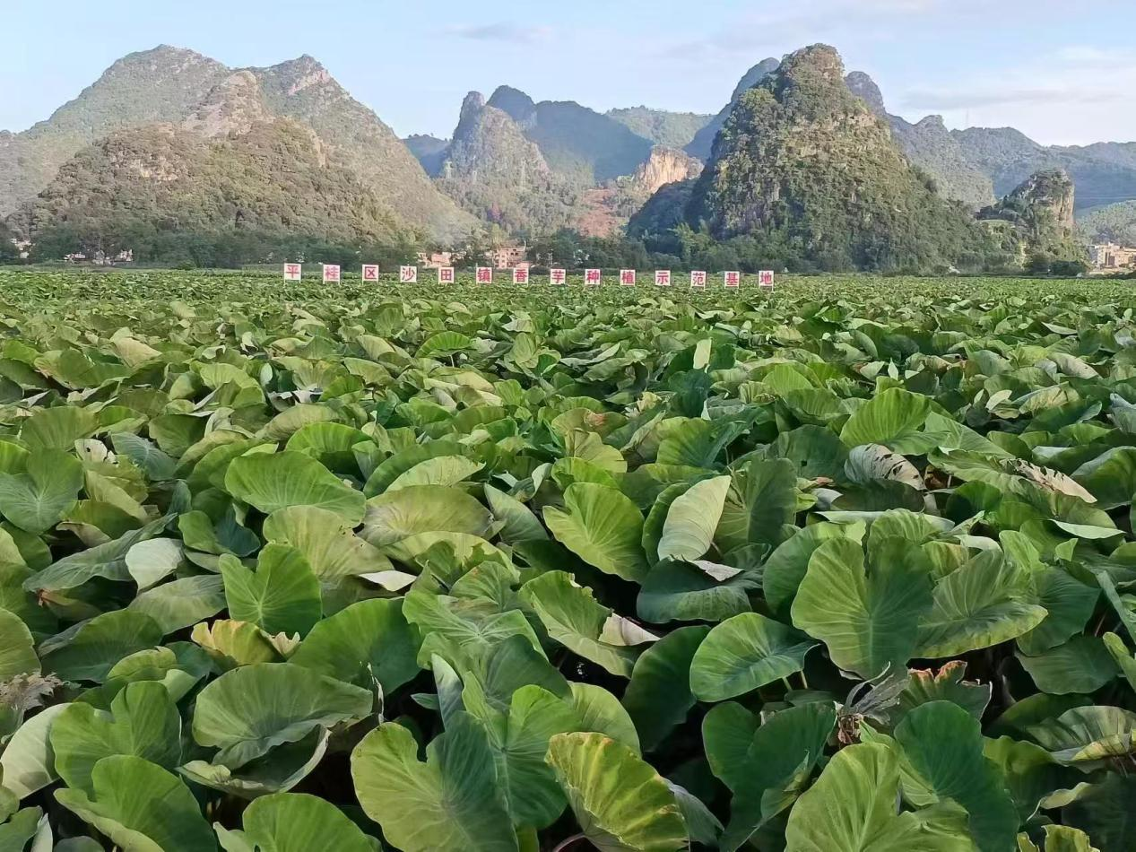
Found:
[{"label": "pale blue sky with thin clouds above the mountains", "polygon": [[11,131],[159,43],[233,67],[310,53],[400,135],[449,135],[466,92],[501,83],[600,110],[715,112],[751,65],[824,41],[910,119],[1011,125],[1046,143],[1136,140],[1133,0],[11,5],[0,50],[0,128]]}]

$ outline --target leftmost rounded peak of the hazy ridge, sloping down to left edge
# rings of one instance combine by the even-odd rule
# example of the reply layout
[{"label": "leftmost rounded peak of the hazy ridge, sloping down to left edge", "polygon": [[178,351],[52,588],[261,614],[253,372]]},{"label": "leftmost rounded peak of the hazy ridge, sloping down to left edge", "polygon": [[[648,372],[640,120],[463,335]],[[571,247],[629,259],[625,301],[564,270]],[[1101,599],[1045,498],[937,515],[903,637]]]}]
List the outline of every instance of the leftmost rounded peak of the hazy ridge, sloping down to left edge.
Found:
[{"label": "leftmost rounded peak of the hazy ridge, sloping down to left edge", "polygon": [[229,70],[166,44],[130,53],[50,118],[23,133],[0,131],[0,217],[32,198],[80,149],[115,131],[179,122]]}]

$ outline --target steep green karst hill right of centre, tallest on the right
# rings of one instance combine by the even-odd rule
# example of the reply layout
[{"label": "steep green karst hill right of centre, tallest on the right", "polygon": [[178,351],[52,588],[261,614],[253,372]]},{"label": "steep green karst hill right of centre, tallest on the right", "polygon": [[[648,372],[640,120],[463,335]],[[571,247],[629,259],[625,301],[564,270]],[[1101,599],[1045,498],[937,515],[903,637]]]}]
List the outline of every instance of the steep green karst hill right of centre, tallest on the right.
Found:
[{"label": "steep green karst hill right of centre, tallest on the right", "polygon": [[989,247],[961,207],[900,152],[844,83],[840,56],[805,48],[742,93],[685,218],[718,240],[750,236],[787,265],[982,268]]}]

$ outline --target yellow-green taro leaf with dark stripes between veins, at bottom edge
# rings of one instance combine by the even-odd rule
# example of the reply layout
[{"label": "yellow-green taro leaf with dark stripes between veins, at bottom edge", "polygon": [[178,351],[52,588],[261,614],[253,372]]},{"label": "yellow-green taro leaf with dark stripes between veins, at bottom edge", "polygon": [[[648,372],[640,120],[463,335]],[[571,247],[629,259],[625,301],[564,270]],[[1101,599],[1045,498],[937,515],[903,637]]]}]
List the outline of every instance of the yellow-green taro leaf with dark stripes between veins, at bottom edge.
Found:
[{"label": "yellow-green taro leaf with dark stripes between veins, at bottom edge", "polygon": [[576,821],[602,852],[671,852],[687,847],[675,793],[650,765],[602,734],[558,734],[549,744]]}]

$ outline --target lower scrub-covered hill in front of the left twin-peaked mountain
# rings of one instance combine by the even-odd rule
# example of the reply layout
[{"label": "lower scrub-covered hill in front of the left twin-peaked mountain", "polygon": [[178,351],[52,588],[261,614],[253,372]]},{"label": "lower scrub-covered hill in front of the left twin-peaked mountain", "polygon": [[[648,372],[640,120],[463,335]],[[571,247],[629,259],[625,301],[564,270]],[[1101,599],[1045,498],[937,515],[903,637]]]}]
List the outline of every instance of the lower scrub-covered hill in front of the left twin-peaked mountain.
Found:
[{"label": "lower scrub-covered hill in front of the left twin-peaked mountain", "polygon": [[112,134],[14,218],[37,259],[72,252],[200,266],[283,260],[328,244],[408,258],[419,239],[369,185],[282,119],[203,139],[172,126]]}]

